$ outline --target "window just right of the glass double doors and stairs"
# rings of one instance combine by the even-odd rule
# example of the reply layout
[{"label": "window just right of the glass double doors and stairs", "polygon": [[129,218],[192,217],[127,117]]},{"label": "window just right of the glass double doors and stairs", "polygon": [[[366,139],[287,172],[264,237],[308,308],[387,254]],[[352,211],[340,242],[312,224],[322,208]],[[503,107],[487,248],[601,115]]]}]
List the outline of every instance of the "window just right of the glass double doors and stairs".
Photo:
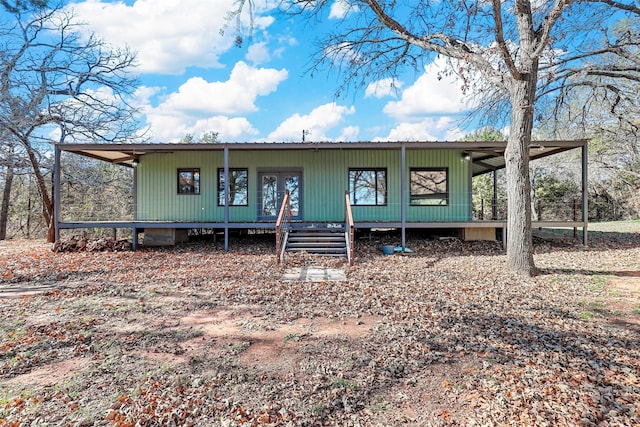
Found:
[{"label": "window just right of the glass double doors and stairs", "polygon": [[387,204],[386,169],[349,169],[349,197],[354,206]]}]

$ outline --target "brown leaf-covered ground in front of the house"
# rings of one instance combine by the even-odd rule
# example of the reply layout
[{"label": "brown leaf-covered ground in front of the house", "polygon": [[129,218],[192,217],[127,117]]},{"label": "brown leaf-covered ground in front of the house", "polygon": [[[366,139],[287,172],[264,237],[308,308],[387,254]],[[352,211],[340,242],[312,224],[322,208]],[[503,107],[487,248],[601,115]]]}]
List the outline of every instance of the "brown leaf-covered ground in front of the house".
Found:
[{"label": "brown leaf-covered ground in front of the house", "polygon": [[0,242],[0,426],[640,425],[640,235],[357,243],[283,280],[273,238],[137,252]]}]

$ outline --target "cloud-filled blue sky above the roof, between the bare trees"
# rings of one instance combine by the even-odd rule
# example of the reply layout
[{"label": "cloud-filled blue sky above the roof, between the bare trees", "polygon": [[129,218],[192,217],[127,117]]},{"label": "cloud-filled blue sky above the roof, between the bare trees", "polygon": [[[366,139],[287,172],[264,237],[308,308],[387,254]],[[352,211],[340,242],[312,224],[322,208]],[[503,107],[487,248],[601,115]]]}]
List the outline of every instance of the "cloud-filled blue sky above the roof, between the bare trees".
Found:
[{"label": "cloud-filled blue sky above the roof, between the bare trees", "polygon": [[86,0],[69,5],[77,19],[114,46],[137,52],[141,86],[133,103],[152,142],[189,133],[219,133],[225,142],[456,140],[466,104],[453,77],[437,79],[444,62],[396,82],[371,82],[336,98],[336,71],[305,74],[323,31],[345,9],[335,0],[318,25],[261,9],[252,36],[238,48],[234,0]]}]

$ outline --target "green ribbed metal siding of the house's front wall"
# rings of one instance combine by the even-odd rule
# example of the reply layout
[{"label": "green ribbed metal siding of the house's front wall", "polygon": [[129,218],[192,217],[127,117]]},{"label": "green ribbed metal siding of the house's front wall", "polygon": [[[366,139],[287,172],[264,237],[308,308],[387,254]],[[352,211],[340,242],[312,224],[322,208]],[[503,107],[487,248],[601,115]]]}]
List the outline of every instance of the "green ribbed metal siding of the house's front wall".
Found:
[{"label": "green ribbed metal siding of the house's front wall", "polygon": [[[224,167],[221,151],[174,152],[144,156],[137,170],[139,220],[223,222],[224,207],[217,206],[217,170]],[[387,205],[353,206],[356,222],[399,222],[401,152],[397,150],[229,150],[230,168],[249,171],[249,205],[230,206],[230,222],[256,222],[260,172],[302,171],[304,221],[342,221],[344,193],[350,168],[387,169]],[[407,222],[466,221],[470,219],[469,162],[457,150],[406,150],[406,179],[413,167],[449,169],[448,206],[409,206]],[[178,195],[179,168],[200,168],[201,193]]]}]

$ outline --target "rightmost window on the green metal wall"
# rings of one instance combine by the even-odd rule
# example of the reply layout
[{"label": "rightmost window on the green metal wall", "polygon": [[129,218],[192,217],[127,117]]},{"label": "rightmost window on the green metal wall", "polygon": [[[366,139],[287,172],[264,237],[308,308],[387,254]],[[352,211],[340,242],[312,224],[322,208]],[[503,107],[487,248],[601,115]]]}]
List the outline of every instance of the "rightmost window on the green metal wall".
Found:
[{"label": "rightmost window on the green metal wall", "polygon": [[447,168],[411,169],[411,204],[446,206],[449,204]]}]

